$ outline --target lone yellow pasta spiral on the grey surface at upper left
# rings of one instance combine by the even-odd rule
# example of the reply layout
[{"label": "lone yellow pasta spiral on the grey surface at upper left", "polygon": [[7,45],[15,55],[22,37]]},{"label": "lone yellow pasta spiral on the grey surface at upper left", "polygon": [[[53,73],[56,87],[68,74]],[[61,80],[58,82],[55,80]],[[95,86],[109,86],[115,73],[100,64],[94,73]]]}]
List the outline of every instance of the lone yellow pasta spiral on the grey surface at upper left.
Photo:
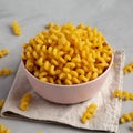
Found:
[{"label": "lone yellow pasta spiral on the grey surface at upper left", "polygon": [[12,30],[16,35],[21,35],[21,28],[17,21],[12,22]]}]

